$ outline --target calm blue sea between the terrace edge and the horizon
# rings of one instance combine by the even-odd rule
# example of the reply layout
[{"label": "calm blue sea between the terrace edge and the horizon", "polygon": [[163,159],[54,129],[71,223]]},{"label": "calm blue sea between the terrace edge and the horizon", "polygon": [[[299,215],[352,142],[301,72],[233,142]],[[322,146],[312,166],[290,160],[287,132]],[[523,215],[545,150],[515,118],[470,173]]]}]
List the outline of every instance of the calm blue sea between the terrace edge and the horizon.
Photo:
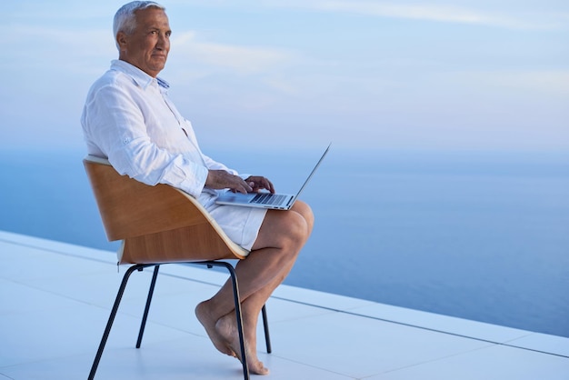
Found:
[{"label": "calm blue sea between the terrace edge and the horizon", "polygon": [[[320,153],[209,152],[283,192]],[[0,153],[0,229],[115,250],[83,155]],[[569,337],[568,195],[569,155],[333,148],[304,192],[316,225],[285,283]]]}]

